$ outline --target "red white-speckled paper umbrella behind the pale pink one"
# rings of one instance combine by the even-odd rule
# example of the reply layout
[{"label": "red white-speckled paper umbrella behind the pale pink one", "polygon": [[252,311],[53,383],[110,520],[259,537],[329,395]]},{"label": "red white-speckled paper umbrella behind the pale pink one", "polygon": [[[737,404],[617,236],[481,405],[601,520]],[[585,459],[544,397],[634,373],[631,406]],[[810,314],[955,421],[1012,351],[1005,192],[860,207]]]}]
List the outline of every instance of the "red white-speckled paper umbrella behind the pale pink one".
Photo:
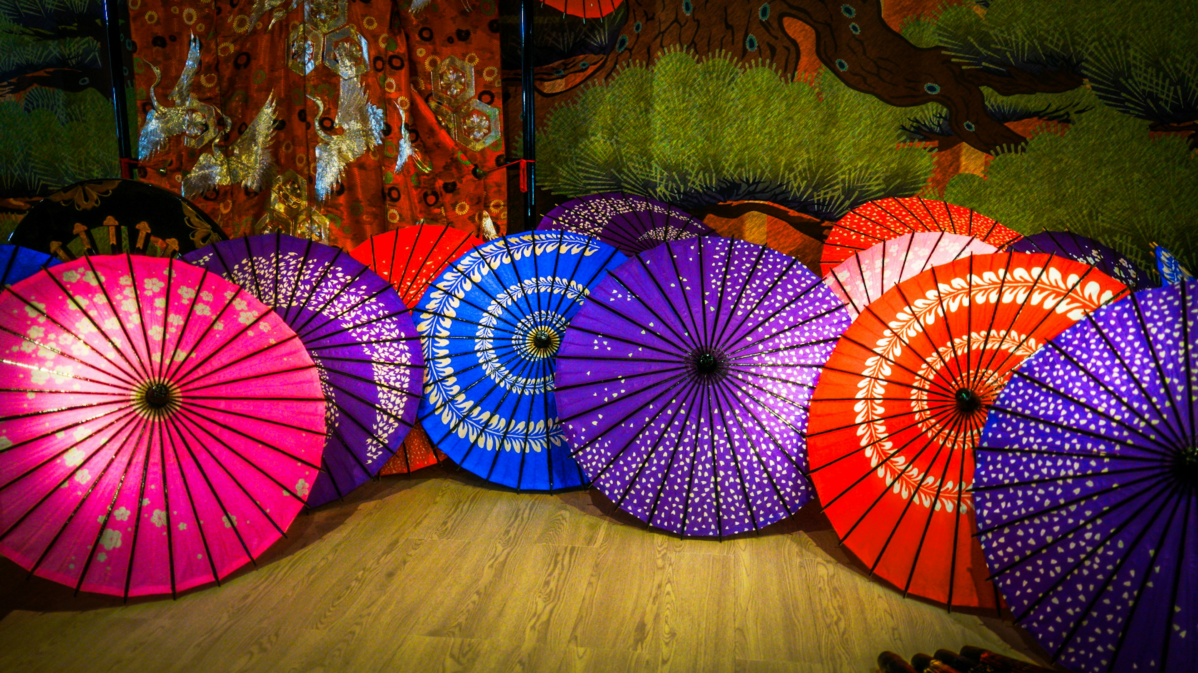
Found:
[{"label": "red white-speckled paper umbrella behind the pale pink one", "polygon": [[988,217],[922,196],[879,199],[858,206],[833,226],[824,241],[819,273],[883,241],[913,231],[948,231],[981,238],[996,248],[1019,238],[1019,234]]}]

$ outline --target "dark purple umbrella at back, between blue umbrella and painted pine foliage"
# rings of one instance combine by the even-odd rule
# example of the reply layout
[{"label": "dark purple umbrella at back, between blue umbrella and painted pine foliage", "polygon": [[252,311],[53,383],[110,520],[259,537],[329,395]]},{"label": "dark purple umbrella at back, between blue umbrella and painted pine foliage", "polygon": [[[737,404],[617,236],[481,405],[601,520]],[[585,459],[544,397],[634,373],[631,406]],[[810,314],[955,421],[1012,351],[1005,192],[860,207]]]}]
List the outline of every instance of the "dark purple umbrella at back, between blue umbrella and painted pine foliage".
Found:
[{"label": "dark purple umbrella at back, between blue umbrella and painted pine foliage", "polygon": [[666,241],[710,236],[715,231],[673,206],[646,196],[609,192],[569,200],[549,213],[538,230],[564,229],[598,238],[625,255]]}]

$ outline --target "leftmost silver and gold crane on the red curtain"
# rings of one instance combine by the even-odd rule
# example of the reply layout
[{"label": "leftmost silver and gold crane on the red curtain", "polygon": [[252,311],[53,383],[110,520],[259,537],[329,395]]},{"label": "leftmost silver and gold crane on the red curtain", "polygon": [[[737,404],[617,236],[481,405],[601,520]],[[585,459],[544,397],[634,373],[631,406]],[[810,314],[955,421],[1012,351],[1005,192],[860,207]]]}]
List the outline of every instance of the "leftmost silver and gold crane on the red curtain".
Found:
[{"label": "leftmost silver and gold crane on the red curtain", "polygon": [[149,63],[149,66],[153,71],[153,85],[150,87],[150,103],[153,108],[146,113],[146,121],[141,126],[141,134],[138,138],[139,158],[149,158],[176,135],[184,135],[183,144],[188,147],[202,147],[222,133],[218,123],[220,119],[224,119],[225,127],[230,126],[229,117],[220,110],[214,105],[201,103],[192,93],[192,81],[200,69],[200,41],[194,35],[190,40],[183,71],[179,75],[175,89],[168,96],[175,103],[174,107],[164,107],[158,102],[155,89],[162,80],[162,72],[153,63]]}]

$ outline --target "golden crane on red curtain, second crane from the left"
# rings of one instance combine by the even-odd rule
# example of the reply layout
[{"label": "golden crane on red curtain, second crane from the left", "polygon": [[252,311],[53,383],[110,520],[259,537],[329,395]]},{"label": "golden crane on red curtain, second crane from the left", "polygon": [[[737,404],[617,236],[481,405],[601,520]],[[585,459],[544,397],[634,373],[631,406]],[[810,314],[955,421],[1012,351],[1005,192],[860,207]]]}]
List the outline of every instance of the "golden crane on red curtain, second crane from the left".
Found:
[{"label": "golden crane on red curtain, second crane from the left", "polygon": [[274,168],[271,145],[274,143],[274,92],[254,116],[241,138],[225,154],[213,146],[211,152],[200,154],[192,171],[183,178],[183,195],[216,189],[222,184],[241,184],[254,192],[261,190]]}]

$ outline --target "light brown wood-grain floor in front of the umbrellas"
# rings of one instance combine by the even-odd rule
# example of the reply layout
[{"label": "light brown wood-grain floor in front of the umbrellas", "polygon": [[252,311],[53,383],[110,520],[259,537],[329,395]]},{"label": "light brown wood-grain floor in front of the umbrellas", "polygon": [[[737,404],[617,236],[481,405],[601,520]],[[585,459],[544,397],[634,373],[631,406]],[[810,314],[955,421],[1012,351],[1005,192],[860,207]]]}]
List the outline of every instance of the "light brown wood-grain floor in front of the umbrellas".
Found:
[{"label": "light brown wood-grain floor in front of the umbrellas", "polygon": [[600,501],[452,467],[383,478],[301,515],[224,586],[129,605],[0,560],[0,671],[865,673],[883,649],[1033,656],[998,618],[870,580],[813,508],[721,542]]}]

